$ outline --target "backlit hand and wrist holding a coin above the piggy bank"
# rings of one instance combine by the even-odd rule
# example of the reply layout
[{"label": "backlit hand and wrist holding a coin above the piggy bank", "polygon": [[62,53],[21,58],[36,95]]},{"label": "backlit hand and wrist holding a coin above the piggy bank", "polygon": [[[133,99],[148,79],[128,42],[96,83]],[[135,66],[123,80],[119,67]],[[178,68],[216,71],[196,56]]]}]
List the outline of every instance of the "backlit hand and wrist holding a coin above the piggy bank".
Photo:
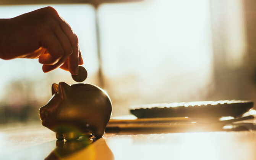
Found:
[{"label": "backlit hand and wrist holding a coin above the piggy bank", "polygon": [[52,7],[0,19],[0,58],[39,58],[44,72],[60,67],[78,74],[78,37]]}]

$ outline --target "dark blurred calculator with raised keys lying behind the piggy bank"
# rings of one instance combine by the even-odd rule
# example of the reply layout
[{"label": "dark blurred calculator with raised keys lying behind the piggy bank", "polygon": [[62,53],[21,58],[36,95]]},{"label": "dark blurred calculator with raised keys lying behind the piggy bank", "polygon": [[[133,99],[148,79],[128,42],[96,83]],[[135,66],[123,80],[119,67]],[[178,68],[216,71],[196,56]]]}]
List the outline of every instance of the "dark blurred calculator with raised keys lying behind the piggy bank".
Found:
[{"label": "dark blurred calculator with raised keys lying behind the piggy bank", "polygon": [[195,117],[219,118],[241,117],[253,107],[253,101],[225,100],[198,101],[131,106],[130,112],[138,118]]}]

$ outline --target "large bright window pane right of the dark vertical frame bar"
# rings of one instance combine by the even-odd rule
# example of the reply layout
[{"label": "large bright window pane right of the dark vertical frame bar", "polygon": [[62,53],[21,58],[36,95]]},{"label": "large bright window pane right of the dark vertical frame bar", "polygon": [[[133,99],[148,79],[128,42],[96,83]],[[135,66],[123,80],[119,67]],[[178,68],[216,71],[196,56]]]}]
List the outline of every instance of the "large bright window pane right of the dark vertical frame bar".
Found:
[{"label": "large bright window pane right of the dark vertical frame bar", "polygon": [[212,86],[209,3],[151,0],[99,8],[113,115],[130,105],[204,100]]}]

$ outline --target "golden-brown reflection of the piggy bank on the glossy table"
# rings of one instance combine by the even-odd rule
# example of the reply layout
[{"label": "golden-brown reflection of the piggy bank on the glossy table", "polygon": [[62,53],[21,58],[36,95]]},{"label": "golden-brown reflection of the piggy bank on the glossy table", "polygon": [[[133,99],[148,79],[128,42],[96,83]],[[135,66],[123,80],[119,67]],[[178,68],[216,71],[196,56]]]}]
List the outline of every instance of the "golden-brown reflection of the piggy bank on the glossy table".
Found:
[{"label": "golden-brown reflection of the piggy bank on the glossy table", "polygon": [[74,141],[57,140],[55,149],[45,158],[45,160],[62,159],[114,160],[114,156],[104,138],[82,137]]}]

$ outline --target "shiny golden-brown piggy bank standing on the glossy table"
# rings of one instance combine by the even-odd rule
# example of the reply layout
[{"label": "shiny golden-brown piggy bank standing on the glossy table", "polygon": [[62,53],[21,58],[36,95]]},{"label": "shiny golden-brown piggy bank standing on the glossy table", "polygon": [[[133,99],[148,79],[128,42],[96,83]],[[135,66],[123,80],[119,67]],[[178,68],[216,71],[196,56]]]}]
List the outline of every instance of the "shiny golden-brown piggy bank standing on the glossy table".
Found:
[{"label": "shiny golden-brown piggy bank standing on the glossy table", "polygon": [[85,133],[102,137],[112,114],[108,94],[95,85],[52,84],[52,98],[39,109],[42,125],[57,139],[73,140]]}]

